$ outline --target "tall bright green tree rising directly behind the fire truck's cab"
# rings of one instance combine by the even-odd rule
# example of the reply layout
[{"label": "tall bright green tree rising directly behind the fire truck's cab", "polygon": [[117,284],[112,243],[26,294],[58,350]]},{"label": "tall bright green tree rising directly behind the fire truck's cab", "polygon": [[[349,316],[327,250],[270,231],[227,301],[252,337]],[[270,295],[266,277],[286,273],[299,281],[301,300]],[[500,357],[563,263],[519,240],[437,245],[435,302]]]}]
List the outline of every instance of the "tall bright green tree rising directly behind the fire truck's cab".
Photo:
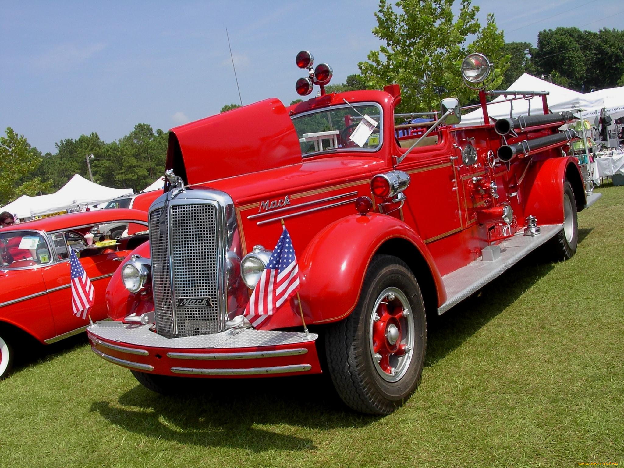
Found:
[{"label": "tall bright green tree rising directly behind the fire truck's cab", "polygon": [[[359,63],[366,87],[381,89],[398,83],[404,112],[436,109],[439,100],[449,95],[462,104],[472,102],[477,92],[464,85],[460,73],[469,52],[481,52],[495,64],[489,85],[500,85],[508,64],[503,33],[494,16],[489,14],[481,27],[476,18],[478,6],[461,0],[456,18],[453,4],[454,0],[399,0],[392,5],[380,0],[373,34],[386,45]],[[467,37],[473,35],[474,41],[468,43]]]}]

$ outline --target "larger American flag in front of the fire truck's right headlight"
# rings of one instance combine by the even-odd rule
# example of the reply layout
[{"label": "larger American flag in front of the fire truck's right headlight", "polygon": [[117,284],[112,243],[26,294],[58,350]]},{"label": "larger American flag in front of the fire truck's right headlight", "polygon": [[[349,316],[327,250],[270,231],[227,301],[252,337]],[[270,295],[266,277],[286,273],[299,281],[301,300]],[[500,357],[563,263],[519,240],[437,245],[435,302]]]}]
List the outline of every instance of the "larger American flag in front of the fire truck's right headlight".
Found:
[{"label": "larger American flag in front of the fire truck's right headlight", "polygon": [[266,264],[245,308],[245,316],[257,327],[299,290],[299,267],[293,241],[286,227]]}]

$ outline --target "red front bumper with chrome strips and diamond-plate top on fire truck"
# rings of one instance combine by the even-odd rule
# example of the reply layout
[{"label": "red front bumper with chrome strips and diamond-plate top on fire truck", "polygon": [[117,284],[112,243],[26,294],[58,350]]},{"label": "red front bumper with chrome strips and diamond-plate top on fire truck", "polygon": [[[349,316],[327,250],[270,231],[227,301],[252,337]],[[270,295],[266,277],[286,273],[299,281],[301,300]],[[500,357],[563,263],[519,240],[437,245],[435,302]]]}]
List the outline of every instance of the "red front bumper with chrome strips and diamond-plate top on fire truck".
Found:
[{"label": "red front bumper with chrome strips and diamond-plate top on fire truck", "polygon": [[150,326],[97,322],[87,327],[92,351],[107,361],[145,373],[202,378],[318,374],[318,334],[230,329],[165,338]]}]

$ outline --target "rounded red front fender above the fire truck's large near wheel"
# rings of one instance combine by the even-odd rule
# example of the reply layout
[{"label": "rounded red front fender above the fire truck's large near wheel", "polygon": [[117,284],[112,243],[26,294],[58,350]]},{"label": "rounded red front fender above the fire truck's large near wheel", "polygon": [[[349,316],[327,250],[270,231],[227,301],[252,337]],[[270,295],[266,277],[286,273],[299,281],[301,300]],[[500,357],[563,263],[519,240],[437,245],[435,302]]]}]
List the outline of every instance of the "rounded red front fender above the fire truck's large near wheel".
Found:
[{"label": "rounded red front fender above the fire truck's large near wheel", "polygon": [[[351,313],[373,255],[392,240],[403,240],[416,248],[416,255],[419,253],[429,267],[437,306],[444,303],[442,278],[419,235],[397,218],[369,213],[350,215],[330,224],[306,246],[299,262],[301,304],[306,316],[312,317],[313,323],[328,323]],[[405,254],[384,253],[399,257]]]}]

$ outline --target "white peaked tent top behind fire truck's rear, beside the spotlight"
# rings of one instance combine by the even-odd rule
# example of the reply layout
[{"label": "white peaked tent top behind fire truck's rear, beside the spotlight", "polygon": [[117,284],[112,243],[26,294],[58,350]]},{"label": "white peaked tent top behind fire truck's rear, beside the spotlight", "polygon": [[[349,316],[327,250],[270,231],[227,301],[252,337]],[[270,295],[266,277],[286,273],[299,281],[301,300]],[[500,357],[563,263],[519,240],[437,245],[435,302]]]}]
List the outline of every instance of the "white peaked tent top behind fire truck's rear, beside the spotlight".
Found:
[{"label": "white peaked tent top behind fire truck's rear, beside the spotlight", "polygon": [[[562,112],[562,110],[575,112],[579,109],[596,109],[591,102],[585,99],[582,93],[541,80],[528,73],[522,74],[507,90],[509,91],[509,97],[514,97],[514,91],[548,91],[547,102],[548,109],[551,112]],[[544,114],[541,96],[512,101],[505,99],[504,95],[498,96],[487,105],[487,112],[490,117],[505,119],[510,116],[529,115],[529,106],[530,114]],[[484,125],[483,111],[477,109],[469,112],[469,114],[462,115],[462,125]]]}]

